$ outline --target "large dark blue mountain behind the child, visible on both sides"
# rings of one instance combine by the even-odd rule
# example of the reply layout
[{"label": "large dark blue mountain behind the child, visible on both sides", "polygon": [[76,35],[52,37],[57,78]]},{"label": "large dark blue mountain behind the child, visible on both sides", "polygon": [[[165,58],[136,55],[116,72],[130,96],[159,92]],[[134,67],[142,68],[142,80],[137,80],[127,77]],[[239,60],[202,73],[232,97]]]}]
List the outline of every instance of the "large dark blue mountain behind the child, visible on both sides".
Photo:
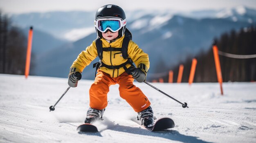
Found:
[{"label": "large dark blue mountain behind the child, visible on both sides", "polygon": [[[140,25],[141,22],[145,26],[139,29],[136,25]],[[238,30],[249,25],[248,22],[219,18],[198,20],[179,15],[144,15],[139,20],[130,22],[130,26],[127,27],[132,32],[133,41],[149,54],[150,76],[150,73],[163,70],[162,67],[157,68],[157,65],[173,66],[186,59],[187,55],[195,56],[198,52],[207,50],[214,37],[231,29]],[[44,54],[38,59],[40,68],[36,69],[37,75],[66,77],[78,54],[95,39],[96,33],[93,33]],[[84,79],[94,79],[95,69],[92,68],[92,64],[84,70]],[[52,72],[49,73],[49,70]]]}]

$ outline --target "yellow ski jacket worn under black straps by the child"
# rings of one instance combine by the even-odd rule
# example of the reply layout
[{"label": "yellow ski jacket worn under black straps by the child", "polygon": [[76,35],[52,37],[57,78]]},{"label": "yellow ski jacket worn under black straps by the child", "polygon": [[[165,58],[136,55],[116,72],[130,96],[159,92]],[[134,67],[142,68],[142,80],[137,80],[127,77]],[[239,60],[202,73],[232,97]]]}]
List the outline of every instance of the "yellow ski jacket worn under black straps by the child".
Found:
[{"label": "yellow ski jacket worn under black straps by the child", "polygon": [[[121,48],[122,43],[124,40],[124,36],[117,39],[114,42],[108,42],[104,38],[101,38],[102,41],[102,47],[108,48]],[[85,51],[82,51],[77,59],[73,62],[71,68],[70,68],[70,74],[78,71],[83,72],[83,69],[88,66],[96,57],[98,56],[97,48],[96,48],[96,42],[95,40],[92,42],[90,46],[88,46]],[[128,44],[128,57],[132,59],[132,61],[135,63],[137,67],[139,67],[140,64],[144,64],[146,68],[144,69],[144,72],[148,72],[149,68],[149,59],[148,54],[144,53],[141,48],[132,40],[130,40]],[[123,64],[128,59],[124,59],[122,57],[122,53],[120,51],[103,51],[103,59],[102,62],[109,65],[109,66],[118,66],[120,64]],[[131,65],[126,64],[126,68],[129,68]],[[106,67],[100,67],[100,71],[103,71],[105,73],[108,73],[110,77],[118,77],[122,73],[125,72],[124,68],[121,67],[119,69],[109,69]]]}]

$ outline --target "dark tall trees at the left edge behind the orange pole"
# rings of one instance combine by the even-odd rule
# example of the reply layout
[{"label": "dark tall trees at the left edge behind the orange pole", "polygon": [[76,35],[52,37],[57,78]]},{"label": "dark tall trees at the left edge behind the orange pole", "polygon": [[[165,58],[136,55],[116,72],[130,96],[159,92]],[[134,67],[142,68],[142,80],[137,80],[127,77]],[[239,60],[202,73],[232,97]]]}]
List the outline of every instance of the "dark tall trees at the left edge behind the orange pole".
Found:
[{"label": "dark tall trees at the left edge behind the orange pole", "polygon": [[23,75],[26,54],[27,37],[0,11],[0,73]]}]

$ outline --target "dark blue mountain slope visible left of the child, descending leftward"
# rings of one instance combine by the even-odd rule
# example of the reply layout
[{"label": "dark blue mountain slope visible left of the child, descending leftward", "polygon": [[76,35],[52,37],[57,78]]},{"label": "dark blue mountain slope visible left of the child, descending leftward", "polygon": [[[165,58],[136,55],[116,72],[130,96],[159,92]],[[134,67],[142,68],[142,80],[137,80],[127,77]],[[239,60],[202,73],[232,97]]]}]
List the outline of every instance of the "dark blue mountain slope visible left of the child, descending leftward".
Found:
[{"label": "dark blue mountain slope visible left of the child, descending leftward", "polygon": [[[76,57],[81,51],[85,50],[88,45],[92,44],[96,36],[96,33],[94,33],[76,42],[59,46],[58,48],[41,54],[40,57],[36,59],[37,64],[34,73],[40,76],[67,77],[70,66]],[[99,59],[97,58],[94,61],[98,62]],[[95,69],[92,68],[92,64],[86,67],[85,72],[82,73],[84,79],[94,79]]]}]

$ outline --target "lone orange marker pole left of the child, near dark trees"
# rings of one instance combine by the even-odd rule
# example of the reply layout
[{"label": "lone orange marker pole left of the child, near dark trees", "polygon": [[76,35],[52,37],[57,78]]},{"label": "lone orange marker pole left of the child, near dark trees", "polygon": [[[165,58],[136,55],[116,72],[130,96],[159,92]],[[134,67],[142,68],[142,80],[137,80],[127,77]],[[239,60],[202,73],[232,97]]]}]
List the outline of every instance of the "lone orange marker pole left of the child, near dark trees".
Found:
[{"label": "lone orange marker pole left of the child, near dark trees", "polygon": [[32,48],[32,37],[33,37],[33,27],[31,26],[29,29],[29,36],[27,41],[27,58],[26,58],[26,66],[25,66],[25,78],[27,79],[29,75],[30,68],[30,59],[31,59],[31,48]]}]

